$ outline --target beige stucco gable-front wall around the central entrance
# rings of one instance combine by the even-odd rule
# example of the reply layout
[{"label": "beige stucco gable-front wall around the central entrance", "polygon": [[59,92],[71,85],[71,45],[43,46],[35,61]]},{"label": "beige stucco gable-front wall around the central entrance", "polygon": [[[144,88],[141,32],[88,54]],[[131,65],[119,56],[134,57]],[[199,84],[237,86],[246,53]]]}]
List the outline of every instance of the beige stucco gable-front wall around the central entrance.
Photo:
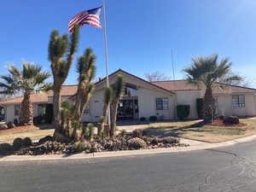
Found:
[{"label": "beige stucco gable-front wall around the central entrance", "polygon": [[[150,116],[158,116],[163,119],[173,119],[174,116],[174,96],[166,90],[161,90],[154,85],[148,84],[146,82],[140,81],[134,77],[131,77],[125,73],[122,74],[124,82],[126,84],[137,85],[137,97],[138,97],[138,108],[139,108],[139,118]],[[110,84],[113,84],[116,80],[116,76],[109,79]],[[84,114],[82,116],[82,121],[96,122],[102,116],[103,99],[104,99],[104,89],[106,83],[97,84],[96,91],[91,97],[89,108],[90,113]],[[169,108],[167,110],[156,110],[155,99],[158,97],[167,97],[169,100]]]}]

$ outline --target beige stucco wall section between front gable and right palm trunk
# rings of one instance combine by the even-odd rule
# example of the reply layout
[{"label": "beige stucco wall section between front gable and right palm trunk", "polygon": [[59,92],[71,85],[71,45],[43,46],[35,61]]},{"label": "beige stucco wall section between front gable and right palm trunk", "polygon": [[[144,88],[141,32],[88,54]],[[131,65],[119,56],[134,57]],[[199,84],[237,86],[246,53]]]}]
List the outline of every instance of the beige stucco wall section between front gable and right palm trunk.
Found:
[{"label": "beige stucco wall section between front gable and right palm trunk", "polygon": [[177,105],[190,106],[190,113],[187,119],[197,119],[198,114],[196,110],[196,99],[201,98],[201,91],[200,90],[177,91],[176,96],[177,96]]}]

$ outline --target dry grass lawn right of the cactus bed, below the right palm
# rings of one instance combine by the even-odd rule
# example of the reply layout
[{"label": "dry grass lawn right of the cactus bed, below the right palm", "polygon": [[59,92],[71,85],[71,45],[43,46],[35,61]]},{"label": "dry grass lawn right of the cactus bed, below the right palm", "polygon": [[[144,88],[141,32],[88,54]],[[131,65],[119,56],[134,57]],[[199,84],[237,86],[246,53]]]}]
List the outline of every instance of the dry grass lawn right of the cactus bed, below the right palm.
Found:
[{"label": "dry grass lawn right of the cactus bed, below the right palm", "polygon": [[[135,125],[137,129],[143,129],[150,136],[157,137],[184,137],[207,143],[229,141],[239,137],[256,134],[256,119],[241,119],[241,123],[247,125],[241,127],[223,127],[201,125],[201,121],[163,122],[150,123],[148,125]],[[125,127],[120,127],[124,129]],[[127,129],[126,129],[127,128]],[[125,130],[131,131],[132,126],[126,126]],[[135,129],[135,127],[133,127]]]}]

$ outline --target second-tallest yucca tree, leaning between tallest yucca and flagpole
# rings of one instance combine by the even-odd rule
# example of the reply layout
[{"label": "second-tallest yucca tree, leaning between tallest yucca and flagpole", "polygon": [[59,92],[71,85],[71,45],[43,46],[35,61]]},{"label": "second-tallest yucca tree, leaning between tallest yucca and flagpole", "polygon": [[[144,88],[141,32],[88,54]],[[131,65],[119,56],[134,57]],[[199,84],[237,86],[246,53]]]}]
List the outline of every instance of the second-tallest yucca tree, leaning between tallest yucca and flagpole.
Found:
[{"label": "second-tallest yucca tree, leaning between tallest yucca and flagpole", "polygon": [[80,120],[95,89],[92,80],[96,74],[96,55],[93,54],[92,49],[85,49],[84,55],[79,57],[77,72],[79,73],[79,85],[75,101],[74,120]]}]

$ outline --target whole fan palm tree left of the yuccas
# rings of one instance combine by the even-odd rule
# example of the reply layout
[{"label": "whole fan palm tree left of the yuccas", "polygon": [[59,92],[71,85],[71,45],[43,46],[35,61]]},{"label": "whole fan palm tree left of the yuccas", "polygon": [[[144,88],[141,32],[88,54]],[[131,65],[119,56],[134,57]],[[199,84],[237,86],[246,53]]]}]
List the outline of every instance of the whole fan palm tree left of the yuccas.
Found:
[{"label": "whole fan palm tree left of the yuccas", "polygon": [[32,125],[33,108],[30,96],[35,91],[49,88],[49,83],[45,81],[50,77],[50,74],[44,72],[42,67],[32,63],[23,63],[21,69],[10,66],[8,72],[9,75],[0,76],[0,94],[15,95],[22,93],[20,125]]}]

